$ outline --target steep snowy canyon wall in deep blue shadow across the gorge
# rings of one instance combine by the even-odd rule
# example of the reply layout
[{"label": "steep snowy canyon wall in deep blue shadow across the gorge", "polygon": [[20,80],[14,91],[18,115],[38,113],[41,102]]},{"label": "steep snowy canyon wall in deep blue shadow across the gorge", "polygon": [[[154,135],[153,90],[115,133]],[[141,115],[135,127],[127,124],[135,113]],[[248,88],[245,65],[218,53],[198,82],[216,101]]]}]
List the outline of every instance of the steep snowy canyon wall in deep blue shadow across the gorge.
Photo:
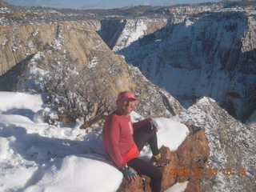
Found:
[{"label": "steep snowy canyon wall in deep blue shadow across the gorge", "polygon": [[122,26],[117,43],[110,47],[183,106],[209,96],[245,121],[256,107],[254,11],[175,10],[177,13],[168,18],[161,30],[145,32],[144,37],[131,42],[136,31],[147,31],[146,19],[140,25],[135,25],[134,19],[135,27]]}]

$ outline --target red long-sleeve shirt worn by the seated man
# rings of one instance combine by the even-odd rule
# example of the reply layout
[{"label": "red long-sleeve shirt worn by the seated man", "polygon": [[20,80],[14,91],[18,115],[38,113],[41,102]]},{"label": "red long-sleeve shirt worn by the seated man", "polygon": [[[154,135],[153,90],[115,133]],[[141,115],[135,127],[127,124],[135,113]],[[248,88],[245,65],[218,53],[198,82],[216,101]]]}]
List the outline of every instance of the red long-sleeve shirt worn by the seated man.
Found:
[{"label": "red long-sleeve shirt worn by the seated man", "polygon": [[130,115],[118,115],[116,111],[106,119],[102,139],[107,154],[118,167],[125,166],[130,159],[138,157],[138,148],[133,138],[134,130],[146,125],[149,120],[150,118],[146,118],[133,124]]}]

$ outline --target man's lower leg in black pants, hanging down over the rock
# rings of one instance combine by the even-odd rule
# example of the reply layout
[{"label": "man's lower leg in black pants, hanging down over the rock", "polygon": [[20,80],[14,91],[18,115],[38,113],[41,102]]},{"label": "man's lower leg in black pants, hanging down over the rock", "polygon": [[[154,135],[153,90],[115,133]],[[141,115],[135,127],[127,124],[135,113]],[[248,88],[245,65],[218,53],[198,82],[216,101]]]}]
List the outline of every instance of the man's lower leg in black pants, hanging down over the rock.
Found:
[{"label": "man's lower leg in black pants, hanging down over the rock", "polygon": [[138,174],[143,174],[150,177],[150,188],[152,192],[161,191],[162,172],[156,166],[152,166],[149,162],[145,162],[140,158],[133,158],[127,165],[137,171]]}]

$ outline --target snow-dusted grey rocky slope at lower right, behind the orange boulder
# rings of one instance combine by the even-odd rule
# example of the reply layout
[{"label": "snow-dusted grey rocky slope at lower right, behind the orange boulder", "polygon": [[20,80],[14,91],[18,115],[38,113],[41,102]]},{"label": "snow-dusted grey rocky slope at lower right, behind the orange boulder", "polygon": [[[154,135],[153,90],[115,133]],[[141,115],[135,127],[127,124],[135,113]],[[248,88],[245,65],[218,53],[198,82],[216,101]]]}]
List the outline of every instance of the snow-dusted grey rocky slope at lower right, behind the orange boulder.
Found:
[{"label": "snow-dusted grey rocky slope at lower right, behind the orange boulder", "polygon": [[215,169],[218,174],[202,179],[202,191],[256,189],[255,126],[245,126],[232,118],[211,98],[201,98],[177,118],[203,127],[208,138],[210,156],[206,169]]}]

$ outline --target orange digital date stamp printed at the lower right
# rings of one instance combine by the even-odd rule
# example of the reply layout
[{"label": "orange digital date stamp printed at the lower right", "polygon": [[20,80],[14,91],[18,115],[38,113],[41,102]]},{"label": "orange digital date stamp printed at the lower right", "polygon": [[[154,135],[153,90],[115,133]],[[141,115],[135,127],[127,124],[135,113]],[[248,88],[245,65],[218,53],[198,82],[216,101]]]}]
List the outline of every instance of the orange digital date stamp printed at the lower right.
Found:
[{"label": "orange digital date stamp printed at the lower right", "polygon": [[189,169],[189,168],[171,168],[170,175],[194,175],[194,176],[214,176],[218,174],[224,174],[227,176],[246,175],[245,168],[226,168],[226,169],[217,169],[217,168],[204,168],[204,169]]}]

